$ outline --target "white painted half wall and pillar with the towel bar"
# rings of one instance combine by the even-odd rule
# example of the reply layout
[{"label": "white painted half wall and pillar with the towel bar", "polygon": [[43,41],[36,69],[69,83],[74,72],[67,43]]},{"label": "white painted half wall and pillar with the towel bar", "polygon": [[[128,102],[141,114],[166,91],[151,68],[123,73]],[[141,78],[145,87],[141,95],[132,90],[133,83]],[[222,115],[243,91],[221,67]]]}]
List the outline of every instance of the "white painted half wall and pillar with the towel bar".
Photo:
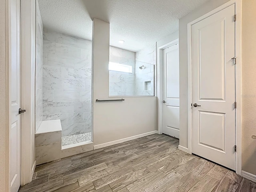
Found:
[{"label": "white painted half wall and pillar with the towel bar", "polygon": [[93,26],[94,145],[157,130],[156,97],[127,97],[123,102],[95,102],[96,99],[108,99],[109,24],[94,19]]}]

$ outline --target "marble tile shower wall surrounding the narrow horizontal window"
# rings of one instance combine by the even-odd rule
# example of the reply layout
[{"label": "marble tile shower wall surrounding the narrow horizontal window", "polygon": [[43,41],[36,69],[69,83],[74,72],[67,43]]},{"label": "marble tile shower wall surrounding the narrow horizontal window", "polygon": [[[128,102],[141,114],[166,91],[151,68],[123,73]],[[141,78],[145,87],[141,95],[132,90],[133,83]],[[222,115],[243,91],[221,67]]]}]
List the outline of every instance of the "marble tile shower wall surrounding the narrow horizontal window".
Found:
[{"label": "marble tile shower wall surrounding the narrow horizontal window", "polygon": [[135,52],[110,46],[109,61],[132,66],[132,73],[109,71],[109,95],[134,96]]}]

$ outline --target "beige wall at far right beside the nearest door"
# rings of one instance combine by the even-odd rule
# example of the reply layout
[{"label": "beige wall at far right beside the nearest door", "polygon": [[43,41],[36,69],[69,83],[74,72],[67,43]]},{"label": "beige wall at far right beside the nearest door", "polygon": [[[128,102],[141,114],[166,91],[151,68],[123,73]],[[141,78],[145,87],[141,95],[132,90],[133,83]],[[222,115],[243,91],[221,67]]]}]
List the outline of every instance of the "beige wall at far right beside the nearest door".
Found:
[{"label": "beige wall at far right beside the nearest door", "polygon": [[256,1],[242,1],[242,170],[256,175]]}]

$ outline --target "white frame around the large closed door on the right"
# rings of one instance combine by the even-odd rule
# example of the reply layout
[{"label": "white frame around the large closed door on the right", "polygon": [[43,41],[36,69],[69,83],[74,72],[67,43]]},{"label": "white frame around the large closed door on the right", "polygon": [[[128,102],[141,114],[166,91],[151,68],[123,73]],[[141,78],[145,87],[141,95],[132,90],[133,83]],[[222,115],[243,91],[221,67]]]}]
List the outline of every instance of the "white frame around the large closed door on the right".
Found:
[{"label": "white frame around the large closed door on the right", "polygon": [[192,25],[223,10],[224,8],[235,4],[236,13],[236,174],[242,174],[242,60],[241,60],[241,17],[242,17],[242,0],[230,0],[218,8],[204,14],[196,20],[188,23],[188,153],[192,154],[192,52],[191,52],[191,34]]}]

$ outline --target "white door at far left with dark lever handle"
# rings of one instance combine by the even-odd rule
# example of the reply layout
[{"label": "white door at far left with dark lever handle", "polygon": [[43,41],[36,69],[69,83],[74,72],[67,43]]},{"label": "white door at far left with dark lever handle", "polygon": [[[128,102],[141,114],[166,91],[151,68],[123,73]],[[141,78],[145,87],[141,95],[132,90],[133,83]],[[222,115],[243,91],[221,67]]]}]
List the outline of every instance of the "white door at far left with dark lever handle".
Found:
[{"label": "white door at far left with dark lever handle", "polygon": [[20,187],[20,0],[10,1],[10,191]]}]

